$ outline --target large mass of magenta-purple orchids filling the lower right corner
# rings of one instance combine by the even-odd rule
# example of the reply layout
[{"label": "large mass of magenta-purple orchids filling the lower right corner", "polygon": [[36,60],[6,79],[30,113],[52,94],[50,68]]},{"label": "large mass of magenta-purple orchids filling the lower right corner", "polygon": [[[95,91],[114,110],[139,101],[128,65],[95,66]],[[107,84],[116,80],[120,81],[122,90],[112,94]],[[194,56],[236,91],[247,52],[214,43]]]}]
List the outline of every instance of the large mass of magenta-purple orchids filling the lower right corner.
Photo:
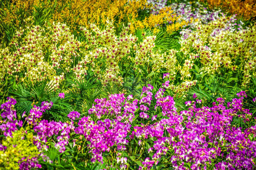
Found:
[{"label": "large mass of magenta-purple orchids filling the lower right corner", "polygon": [[[223,98],[218,98],[219,104],[214,102],[213,107],[202,108],[196,107],[196,102],[188,101],[186,103],[190,103],[189,109],[181,111],[180,114],[175,112],[175,107],[170,108],[171,104],[160,102],[163,115],[166,110],[171,112],[168,114],[168,119],[162,119],[152,125],[135,126],[135,131],[132,132],[144,141],[149,137],[157,139],[153,148],[148,150],[149,153],[155,150],[152,161],[146,158],[140,168],[150,169],[157,164],[161,155],[166,155],[168,150],[173,150],[170,160],[174,169],[187,169],[184,162],[190,163],[191,169],[196,169],[198,166],[206,168],[217,156],[223,157],[224,154],[227,155],[226,161],[215,163],[216,169],[223,169],[223,167],[224,169],[253,169],[256,142],[251,141],[248,135],[254,133],[252,131],[255,128],[252,126],[250,129],[241,131],[241,128],[231,125],[232,117],[238,112],[251,116],[249,109],[243,109],[242,102],[246,93],[241,91],[238,97],[240,98],[234,98],[232,103],[228,102],[227,107],[224,106]],[[173,102],[168,96],[166,98],[168,102]],[[165,98],[159,97],[159,99]],[[169,136],[164,135],[165,130]]]}]

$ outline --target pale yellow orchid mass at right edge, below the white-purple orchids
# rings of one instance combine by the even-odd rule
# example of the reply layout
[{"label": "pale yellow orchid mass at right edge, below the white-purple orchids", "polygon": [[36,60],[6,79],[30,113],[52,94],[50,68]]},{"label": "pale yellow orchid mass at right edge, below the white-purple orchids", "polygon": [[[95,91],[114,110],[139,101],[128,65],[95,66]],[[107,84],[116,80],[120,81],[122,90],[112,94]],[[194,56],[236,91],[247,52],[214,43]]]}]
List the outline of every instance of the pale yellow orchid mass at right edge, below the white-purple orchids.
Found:
[{"label": "pale yellow orchid mass at right edge, below the white-purple orchids", "polygon": [[[249,83],[249,77],[255,72],[256,25],[235,30],[234,21],[232,17],[223,16],[207,24],[196,23],[196,30],[181,42],[181,51],[189,56],[180,71],[182,76],[190,77],[189,69],[194,61],[199,61],[202,73],[212,74],[223,68],[232,72],[238,70],[243,73],[242,84]],[[238,58],[241,58],[240,63],[235,62]]]}]

